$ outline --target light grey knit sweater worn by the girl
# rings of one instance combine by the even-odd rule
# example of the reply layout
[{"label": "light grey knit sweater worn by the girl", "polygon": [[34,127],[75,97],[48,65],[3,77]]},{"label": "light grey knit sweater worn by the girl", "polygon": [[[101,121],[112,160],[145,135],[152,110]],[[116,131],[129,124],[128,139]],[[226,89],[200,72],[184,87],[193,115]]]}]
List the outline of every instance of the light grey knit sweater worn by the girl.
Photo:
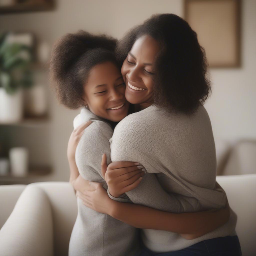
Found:
[{"label": "light grey knit sweater worn by the girl", "polygon": [[[93,121],[84,131],[77,149],[76,164],[80,175],[87,180],[102,182],[107,189],[101,174],[101,158],[106,153],[110,163],[110,143],[113,130],[86,108],[74,119],[74,128],[87,121]],[[137,256],[140,255],[139,230],[112,218],[109,215],[94,211],[83,205],[77,198],[78,214],[70,242],[69,256]]]}]

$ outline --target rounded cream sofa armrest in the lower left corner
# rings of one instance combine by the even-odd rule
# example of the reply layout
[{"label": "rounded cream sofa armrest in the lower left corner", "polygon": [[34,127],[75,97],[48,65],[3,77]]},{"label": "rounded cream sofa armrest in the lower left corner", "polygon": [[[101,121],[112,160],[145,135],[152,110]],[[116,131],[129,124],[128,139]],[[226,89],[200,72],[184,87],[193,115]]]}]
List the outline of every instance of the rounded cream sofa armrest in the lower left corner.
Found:
[{"label": "rounded cream sofa armrest in the lower left corner", "polygon": [[53,255],[53,223],[46,193],[27,185],[0,230],[0,255]]}]

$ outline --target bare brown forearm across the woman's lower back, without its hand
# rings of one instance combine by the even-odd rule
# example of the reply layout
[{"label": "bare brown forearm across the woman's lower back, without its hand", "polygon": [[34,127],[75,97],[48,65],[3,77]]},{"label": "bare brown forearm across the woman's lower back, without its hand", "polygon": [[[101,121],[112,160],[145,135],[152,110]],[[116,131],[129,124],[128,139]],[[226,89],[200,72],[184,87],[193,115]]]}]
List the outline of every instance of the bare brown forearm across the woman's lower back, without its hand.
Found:
[{"label": "bare brown forearm across the woman's lower back, without its hand", "polygon": [[195,239],[222,226],[229,219],[229,206],[220,210],[170,213],[146,206],[113,201],[109,214],[136,228],[166,230]]}]

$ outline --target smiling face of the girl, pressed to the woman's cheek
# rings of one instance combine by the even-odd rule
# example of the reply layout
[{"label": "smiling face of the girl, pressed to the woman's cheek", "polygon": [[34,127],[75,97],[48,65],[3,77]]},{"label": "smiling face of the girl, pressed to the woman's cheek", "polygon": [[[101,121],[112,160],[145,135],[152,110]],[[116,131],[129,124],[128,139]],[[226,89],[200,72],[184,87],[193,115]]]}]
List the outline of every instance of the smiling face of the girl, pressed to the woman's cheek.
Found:
[{"label": "smiling face of the girl, pressed to the woman's cheek", "polygon": [[125,83],[120,70],[112,62],[104,62],[91,68],[82,99],[95,115],[119,122],[129,109],[124,94]]}]

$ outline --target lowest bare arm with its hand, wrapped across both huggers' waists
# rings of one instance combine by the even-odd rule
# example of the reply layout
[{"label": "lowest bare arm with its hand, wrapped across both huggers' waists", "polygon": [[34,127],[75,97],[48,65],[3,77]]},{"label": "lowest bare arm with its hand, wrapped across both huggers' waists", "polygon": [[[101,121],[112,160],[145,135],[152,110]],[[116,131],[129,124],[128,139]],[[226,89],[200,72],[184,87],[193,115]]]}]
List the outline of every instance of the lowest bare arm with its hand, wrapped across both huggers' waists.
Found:
[{"label": "lowest bare arm with its hand, wrapped across both huggers' waists", "polygon": [[91,209],[108,214],[136,228],[176,232],[186,239],[195,239],[215,230],[225,224],[230,215],[228,201],[226,207],[219,210],[175,214],[112,200],[101,183],[91,182],[88,190],[90,191],[86,188],[83,193],[78,191],[77,196]]}]

